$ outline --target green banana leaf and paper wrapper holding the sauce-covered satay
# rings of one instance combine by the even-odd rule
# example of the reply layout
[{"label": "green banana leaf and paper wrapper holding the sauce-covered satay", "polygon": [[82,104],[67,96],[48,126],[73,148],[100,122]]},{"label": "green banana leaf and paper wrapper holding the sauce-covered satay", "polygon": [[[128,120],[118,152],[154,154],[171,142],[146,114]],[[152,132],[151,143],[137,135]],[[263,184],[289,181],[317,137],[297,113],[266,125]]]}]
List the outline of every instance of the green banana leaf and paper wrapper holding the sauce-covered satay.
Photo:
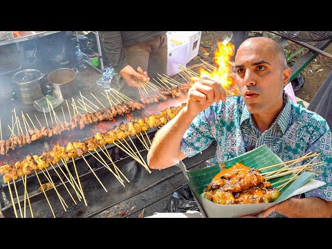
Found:
[{"label": "green banana leaf and paper wrapper holding the sauce-covered satay", "polygon": [[[234,163],[238,162],[241,162],[244,165],[255,169],[275,165],[277,163],[283,163],[279,156],[274,154],[273,151],[271,151],[266,145],[262,145],[257,149],[253,149],[252,151],[242,154],[241,156],[232,158],[226,161],[224,166],[229,168],[232,167]],[[272,172],[284,166],[285,165],[279,165],[270,169],[264,169],[262,172]],[[190,189],[192,190],[192,193],[194,194],[194,197],[199,205],[199,208],[206,217],[240,217],[248,214],[257,214],[258,212],[264,211],[281,201],[291,198],[291,196],[308,192],[309,190],[313,190],[326,184],[322,181],[312,179],[315,174],[310,172],[303,172],[299,175],[298,178],[295,179],[295,181],[292,181],[283,187],[280,191],[280,196],[278,199],[271,203],[220,205],[213,203],[212,201],[209,201],[202,196],[204,189],[212,181],[212,178],[221,171],[220,165],[187,171],[185,165],[181,161],[179,162],[178,167],[182,169],[185,178],[187,178],[188,185],[190,186]],[[273,178],[270,179],[270,183],[275,183],[273,187],[278,187],[279,185],[282,185],[286,182],[284,181],[282,183],[277,183],[278,181],[283,179],[290,179],[293,176],[294,174],[289,174],[286,176]]]}]

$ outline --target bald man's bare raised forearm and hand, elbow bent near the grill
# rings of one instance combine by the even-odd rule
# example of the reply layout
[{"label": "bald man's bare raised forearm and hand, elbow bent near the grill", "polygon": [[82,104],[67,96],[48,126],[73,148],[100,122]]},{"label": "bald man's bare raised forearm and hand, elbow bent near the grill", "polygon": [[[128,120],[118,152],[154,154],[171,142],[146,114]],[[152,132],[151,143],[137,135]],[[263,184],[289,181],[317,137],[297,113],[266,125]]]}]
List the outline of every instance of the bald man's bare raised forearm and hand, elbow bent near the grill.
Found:
[{"label": "bald man's bare raised forearm and hand, elbow bent near the grill", "polygon": [[147,162],[152,169],[165,169],[183,160],[181,140],[194,118],[213,102],[225,101],[225,91],[213,80],[198,79],[188,91],[187,105],[156,133]]}]

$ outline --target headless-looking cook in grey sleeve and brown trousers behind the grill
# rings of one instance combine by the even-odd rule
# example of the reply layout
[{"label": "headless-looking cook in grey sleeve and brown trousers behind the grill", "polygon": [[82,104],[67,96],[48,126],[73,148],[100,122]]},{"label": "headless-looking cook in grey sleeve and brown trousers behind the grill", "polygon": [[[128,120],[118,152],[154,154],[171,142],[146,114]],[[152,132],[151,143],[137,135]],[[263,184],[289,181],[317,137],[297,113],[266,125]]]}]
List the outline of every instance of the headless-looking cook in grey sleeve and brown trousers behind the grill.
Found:
[{"label": "headless-looking cook in grey sleeve and brown trousers behind the grill", "polygon": [[[100,39],[116,72],[118,91],[140,100],[138,80],[167,74],[167,31],[100,31]],[[112,86],[113,87],[113,86]]]}]

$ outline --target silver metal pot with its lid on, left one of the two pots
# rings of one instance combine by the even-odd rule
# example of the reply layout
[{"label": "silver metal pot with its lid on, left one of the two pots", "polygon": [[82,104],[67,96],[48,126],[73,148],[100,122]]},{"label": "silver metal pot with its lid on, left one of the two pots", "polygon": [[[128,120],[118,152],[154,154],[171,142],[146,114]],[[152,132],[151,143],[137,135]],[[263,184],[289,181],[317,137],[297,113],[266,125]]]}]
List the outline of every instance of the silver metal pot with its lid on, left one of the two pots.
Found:
[{"label": "silver metal pot with its lid on, left one of the two pots", "polygon": [[23,104],[33,104],[34,100],[39,100],[44,96],[39,82],[44,75],[36,69],[25,69],[12,75],[17,96]]}]

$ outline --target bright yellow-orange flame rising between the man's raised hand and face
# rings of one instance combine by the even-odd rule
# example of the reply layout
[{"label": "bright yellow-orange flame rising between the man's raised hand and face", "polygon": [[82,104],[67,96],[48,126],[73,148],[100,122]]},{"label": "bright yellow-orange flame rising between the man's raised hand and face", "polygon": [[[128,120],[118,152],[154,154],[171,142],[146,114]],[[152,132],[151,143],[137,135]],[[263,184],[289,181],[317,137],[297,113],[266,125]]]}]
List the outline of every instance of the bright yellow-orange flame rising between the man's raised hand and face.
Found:
[{"label": "bright yellow-orange flame rising between the man's raised hand and face", "polygon": [[231,86],[235,87],[235,80],[232,77],[232,66],[231,58],[234,55],[234,45],[230,43],[227,39],[223,42],[218,42],[218,48],[216,49],[214,55],[214,61],[217,64],[214,70],[207,71],[205,68],[201,68],[201,77],[209,77],[216,82],[219,82],[223,89],[230,89]]}]

